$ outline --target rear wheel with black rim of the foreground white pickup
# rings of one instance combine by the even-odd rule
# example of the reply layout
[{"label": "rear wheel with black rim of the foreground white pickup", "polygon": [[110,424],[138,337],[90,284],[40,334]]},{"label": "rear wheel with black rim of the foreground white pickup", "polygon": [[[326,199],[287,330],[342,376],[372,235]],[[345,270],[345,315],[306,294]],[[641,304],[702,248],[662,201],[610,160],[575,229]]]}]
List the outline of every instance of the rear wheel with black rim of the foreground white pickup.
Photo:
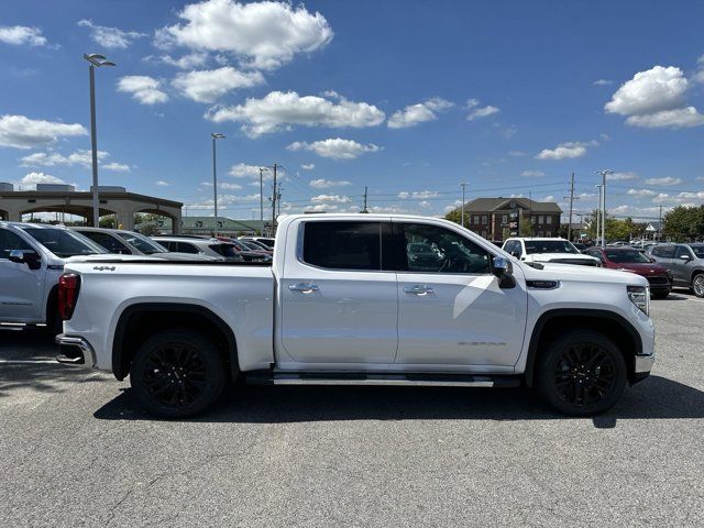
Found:
[{"label": "rear wheel with black rim of the foreground white pickup", "polygon": [[150,413],[185,418],[208,409],[222,394],[226,364],[217,346],[191,330],[166,330],[138,349],[130,384]]}]

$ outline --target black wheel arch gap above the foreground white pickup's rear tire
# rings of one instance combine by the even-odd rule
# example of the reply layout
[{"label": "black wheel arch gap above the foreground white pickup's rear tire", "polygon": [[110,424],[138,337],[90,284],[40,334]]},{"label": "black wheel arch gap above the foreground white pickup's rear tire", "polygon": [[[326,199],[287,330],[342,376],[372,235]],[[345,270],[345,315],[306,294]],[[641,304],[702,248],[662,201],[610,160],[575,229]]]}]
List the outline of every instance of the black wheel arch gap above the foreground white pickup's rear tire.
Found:
[{"label": "black wheel arch gap above the foreground white pickup's rear tire", "polygon": [[210,309],[180,302],[140,302],[127,307],[118,319],[112,339],[112,373],[122,381],[138,345],[157,331],[189,328],[217,341],[227,361],[230,376],[239,375],[238,345],[234,331]]}]

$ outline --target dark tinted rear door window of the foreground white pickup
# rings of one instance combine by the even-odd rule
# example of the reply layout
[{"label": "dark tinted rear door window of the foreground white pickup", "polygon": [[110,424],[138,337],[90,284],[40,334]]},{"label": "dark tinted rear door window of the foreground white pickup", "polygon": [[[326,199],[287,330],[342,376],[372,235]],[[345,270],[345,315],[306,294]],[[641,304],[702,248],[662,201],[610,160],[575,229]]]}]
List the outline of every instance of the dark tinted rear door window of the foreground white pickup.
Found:
[{"label": "dark tinted rear door window of the foreground white pickup", "polygon": [[306,222],[302,260],[330,270],[381,270],[380,222]]}]

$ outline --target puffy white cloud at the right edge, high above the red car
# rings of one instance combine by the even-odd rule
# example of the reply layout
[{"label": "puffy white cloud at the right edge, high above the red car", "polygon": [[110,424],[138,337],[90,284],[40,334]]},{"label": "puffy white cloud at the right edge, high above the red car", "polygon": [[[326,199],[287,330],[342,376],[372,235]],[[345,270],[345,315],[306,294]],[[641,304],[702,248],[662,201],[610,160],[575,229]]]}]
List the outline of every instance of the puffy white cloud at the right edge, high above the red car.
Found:
[{"label": "puffy white cloud at the right edge, high above the red car", "polygon": [[626,124],[681,129],[704,125],[704,116],[685,105],[690,81],[674,66],[654,66],[624,82],[604,106],[607,113],[627,116]]}]

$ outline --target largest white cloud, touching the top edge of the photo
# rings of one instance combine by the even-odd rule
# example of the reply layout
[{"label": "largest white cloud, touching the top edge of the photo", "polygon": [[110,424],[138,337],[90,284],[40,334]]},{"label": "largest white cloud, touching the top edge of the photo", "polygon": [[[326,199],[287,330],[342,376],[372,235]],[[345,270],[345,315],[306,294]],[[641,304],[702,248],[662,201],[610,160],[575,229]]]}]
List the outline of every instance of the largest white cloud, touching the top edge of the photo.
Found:
[{"label": "largest white cloud, touching the top edge of the photo", "polygon": [[207,0],[186,6],[178,16],[182,23],[156,32],[157,46],[224,52],[258,69],[279,67],[296,54],[326,46],[333,36],[324,16],[302,4]]}]

